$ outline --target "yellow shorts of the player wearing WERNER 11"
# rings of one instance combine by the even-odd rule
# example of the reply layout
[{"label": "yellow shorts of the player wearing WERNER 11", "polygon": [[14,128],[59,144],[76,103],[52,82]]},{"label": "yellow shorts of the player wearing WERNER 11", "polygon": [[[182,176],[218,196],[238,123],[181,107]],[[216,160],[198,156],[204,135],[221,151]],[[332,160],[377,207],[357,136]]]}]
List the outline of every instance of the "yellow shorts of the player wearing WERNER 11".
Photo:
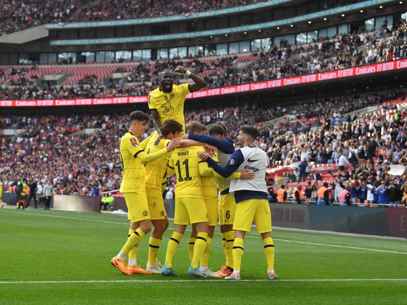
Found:
[{"label": "yellow shorts of the player wearing WERNER 11", "polygon": [[189,225],[208,221],[208,211],[203,198],[176,198],[174,223]]}]

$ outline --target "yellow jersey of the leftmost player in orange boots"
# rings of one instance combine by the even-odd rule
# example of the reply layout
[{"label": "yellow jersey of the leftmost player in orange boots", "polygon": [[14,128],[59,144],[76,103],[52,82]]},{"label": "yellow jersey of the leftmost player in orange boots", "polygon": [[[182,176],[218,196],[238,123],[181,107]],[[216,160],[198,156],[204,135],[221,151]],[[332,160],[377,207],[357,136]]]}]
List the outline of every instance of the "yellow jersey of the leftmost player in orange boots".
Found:
[{"label": "yellow jersey of the leftmost player in orange boots", "polygon": [[120,185],[121,193],[134,193],[146,189],[144,167],[136,156],[144,151],[137,137],[127,132],[120,140],[120,161],[122,163],[123,179]]}]

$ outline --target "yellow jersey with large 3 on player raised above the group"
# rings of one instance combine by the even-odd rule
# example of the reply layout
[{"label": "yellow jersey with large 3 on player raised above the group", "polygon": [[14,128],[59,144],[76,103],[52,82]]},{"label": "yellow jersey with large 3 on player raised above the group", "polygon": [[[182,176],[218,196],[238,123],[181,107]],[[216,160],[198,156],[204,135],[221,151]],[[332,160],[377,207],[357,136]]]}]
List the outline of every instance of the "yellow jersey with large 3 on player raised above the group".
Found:
[{"label": "yellow jersey with large 3 on player raised above the group", "polygon": [[172,85],[170,93],[157,88],[149,94],[149,109],[156,109],[161,124],[168,119],[176,120],[182,125],[185,133],[184,102],[185,96],[191,93],[189,84]]}]

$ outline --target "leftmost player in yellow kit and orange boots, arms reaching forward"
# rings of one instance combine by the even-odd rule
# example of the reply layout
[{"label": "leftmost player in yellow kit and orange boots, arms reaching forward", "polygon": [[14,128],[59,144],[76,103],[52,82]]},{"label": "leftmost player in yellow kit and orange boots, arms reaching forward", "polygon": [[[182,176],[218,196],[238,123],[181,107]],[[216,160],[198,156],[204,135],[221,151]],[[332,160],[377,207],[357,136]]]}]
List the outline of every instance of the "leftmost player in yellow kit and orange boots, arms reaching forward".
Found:
[{"label": "leftmost player in yellow kit and orange boots, arms reaching forward", "polygon": [[[180,145],[179,138],[172,139],[167,147],[160,149],[154,154],[147,154],[142,148],[143,145],[137,136],[143,134],[147,129],[147,122],[150,117],[142,111],[130,113],[129,131],[120,141],[120,160],[123,169],[123,179],[120,192],[124,194],[128,207],[128,218],[131,220],[129,238],[119,254],[110,261],[113,266],[127,275],[133,273],[149,273],[137,265],[135,258],[130,252],[138,245],[138,242],[151,230],[150,212],[147,201],[146,178],[142,163],[149,163],[161,156],[168,154],[168,151]],[[125,259],[129,255],[129,266]]]}]

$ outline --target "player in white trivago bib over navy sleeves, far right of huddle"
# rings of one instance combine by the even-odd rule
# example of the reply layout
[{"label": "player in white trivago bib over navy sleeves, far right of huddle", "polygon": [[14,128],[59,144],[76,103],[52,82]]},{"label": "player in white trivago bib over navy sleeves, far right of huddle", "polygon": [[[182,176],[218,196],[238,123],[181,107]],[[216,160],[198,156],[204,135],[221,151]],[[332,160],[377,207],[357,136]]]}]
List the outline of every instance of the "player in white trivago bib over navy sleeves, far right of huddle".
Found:
[{"label": "player in white trivago bib over navy sleeves, far right of huddle", "polygon": [[277,280],[274,272],[274,243],[271,238],[271,213],[267,197],[266,169],[267,154],[260,148],[254,147],[258,130],[254,126],[242,126],[237,137],[240,149],[230,157],[225,167],[213,161],[204,151],[198,151],[199,159],[206,161],[217,173],[228,177],[232,172],[249,169],[254,172],[253,180],[232,179],[230,193],[235,196],[237,203],[235,222],[235,241],[233,243],[234,271],[226,280],[240,281],[240,267],[243,256],[243,239],[246,232],[250,232],[254,220],[257,232],[261,234],[264,252],[267,260],[269,280]]}]

